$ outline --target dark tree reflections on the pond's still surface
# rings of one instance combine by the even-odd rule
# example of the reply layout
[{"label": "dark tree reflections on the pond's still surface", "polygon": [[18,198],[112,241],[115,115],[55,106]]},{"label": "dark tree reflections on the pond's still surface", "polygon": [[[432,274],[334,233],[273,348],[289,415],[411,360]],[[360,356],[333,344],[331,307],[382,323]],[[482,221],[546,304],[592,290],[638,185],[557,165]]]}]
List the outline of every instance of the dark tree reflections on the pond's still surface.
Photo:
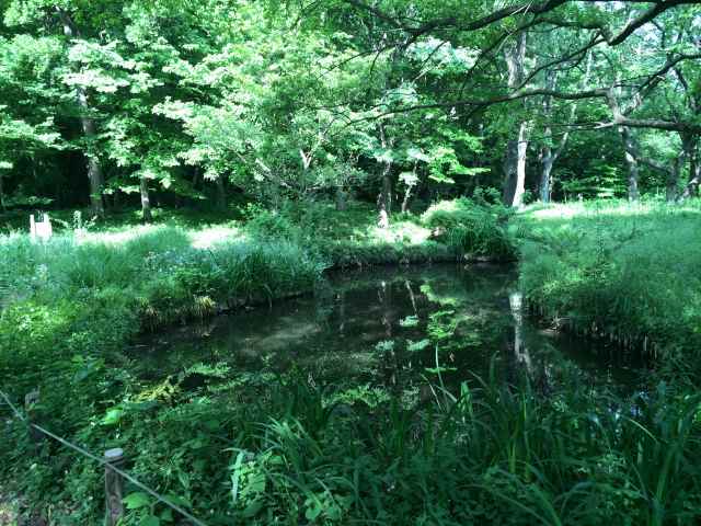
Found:
[{"label": "dark tree reflections on the pond's still surface", "polygon": [[[487,374],[494,354],[502,358],[497,373],[506,381],[528,375],[533,385],[549,389],[553,375],[560,376],[558,352],[548,353],[544,339],[532,333],[522,298],[509,291],[508,273],[441,267],[382,270],[379,277],[374,270],[361,277],[330,281],[313,298],[276,304],[272,310],[163,334],[163,352],[153,354],[149,367],[163,376],[196,362],[228,362],[240,371],[296,365],[312,371],[315,381],[371,382],[395,395],[414,386],[418,400],[430,395],[422,386],[425,368],[436,368],[438,344],[440,366],[458,369],[444,376],[452,387],[471,373]],[[378,351],[382,341],[394,342],[393,347]]]}]

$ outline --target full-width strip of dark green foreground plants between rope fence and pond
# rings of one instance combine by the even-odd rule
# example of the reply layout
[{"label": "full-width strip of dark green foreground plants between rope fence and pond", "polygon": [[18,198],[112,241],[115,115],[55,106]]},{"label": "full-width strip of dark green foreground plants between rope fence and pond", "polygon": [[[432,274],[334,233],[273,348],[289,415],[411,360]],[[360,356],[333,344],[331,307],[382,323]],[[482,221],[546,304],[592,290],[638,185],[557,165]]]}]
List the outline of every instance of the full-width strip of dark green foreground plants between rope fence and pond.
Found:
[{"label": "full-width strip of dark green foreground plants between rope fence and pond", "polygon": [[[698,521],[701,399],[660,385],[624,401],[577,378],[563,368],[549,397],[492,375],[455,393],[434,386],[440,404],[368,405],[301,374],[251,377],[150,402],[135,393],[82,436],[93,447],[119,436],[138,451],[130,471],[211,525]],[[9,431],[13,444],[24,433]],[[99,515],[93,471],[79,459],[60,476],[83,524]],[[126,524],[161,513],[146,500]]]}]

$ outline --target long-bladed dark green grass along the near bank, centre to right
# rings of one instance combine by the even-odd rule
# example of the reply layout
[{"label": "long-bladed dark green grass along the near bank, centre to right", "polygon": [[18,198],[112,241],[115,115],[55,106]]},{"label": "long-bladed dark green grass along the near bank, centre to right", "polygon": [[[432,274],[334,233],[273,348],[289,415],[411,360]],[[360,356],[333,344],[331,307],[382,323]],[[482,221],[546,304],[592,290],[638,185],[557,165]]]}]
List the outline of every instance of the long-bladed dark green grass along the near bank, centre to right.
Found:
[{"label": "long-bladed dark green grass along the near bank, centre to right", "polygon": [[309,387],[286,386],[265,407],[274,416],[232,450],[234,516],[397,525],[698,518],[700,399],[658,391],[628,403],[561,380],[567,389],[551,399],[493,376],[464,384],[440,409],[392,400],[372,411],[329,407]]}]

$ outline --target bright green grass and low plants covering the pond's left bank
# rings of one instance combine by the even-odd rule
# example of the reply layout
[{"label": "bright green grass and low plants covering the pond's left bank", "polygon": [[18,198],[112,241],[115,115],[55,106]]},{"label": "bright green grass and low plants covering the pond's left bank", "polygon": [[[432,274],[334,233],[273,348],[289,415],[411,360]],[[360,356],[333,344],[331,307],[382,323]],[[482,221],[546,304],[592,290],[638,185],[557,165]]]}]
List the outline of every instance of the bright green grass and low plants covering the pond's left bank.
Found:
[{"label": "bright green grass and low plants covering the pond's left bank", "polygon": [[289,242],[196,249],[175,228],[125,242],[13,236],[0,261],[1,384],[19,397],[41,388],[51,421],[71,431],[123,389],[123,351],[140,331],[309,291],[323,270]]}]

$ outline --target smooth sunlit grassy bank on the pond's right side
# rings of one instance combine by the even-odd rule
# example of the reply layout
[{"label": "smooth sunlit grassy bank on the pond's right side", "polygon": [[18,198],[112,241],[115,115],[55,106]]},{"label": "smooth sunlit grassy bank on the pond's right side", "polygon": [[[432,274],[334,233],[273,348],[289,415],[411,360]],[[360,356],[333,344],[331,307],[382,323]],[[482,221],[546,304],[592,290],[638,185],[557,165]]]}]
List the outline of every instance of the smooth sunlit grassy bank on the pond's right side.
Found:
[{"label": "smooth sunlit grassy bank on the pond's right side", "polygon": [[[701,206],[591,203],[532,209],[520,281],[540,315],[662,362],[696,358],[701,328]],[[688,362],[685,361],[685,362]]]}]

